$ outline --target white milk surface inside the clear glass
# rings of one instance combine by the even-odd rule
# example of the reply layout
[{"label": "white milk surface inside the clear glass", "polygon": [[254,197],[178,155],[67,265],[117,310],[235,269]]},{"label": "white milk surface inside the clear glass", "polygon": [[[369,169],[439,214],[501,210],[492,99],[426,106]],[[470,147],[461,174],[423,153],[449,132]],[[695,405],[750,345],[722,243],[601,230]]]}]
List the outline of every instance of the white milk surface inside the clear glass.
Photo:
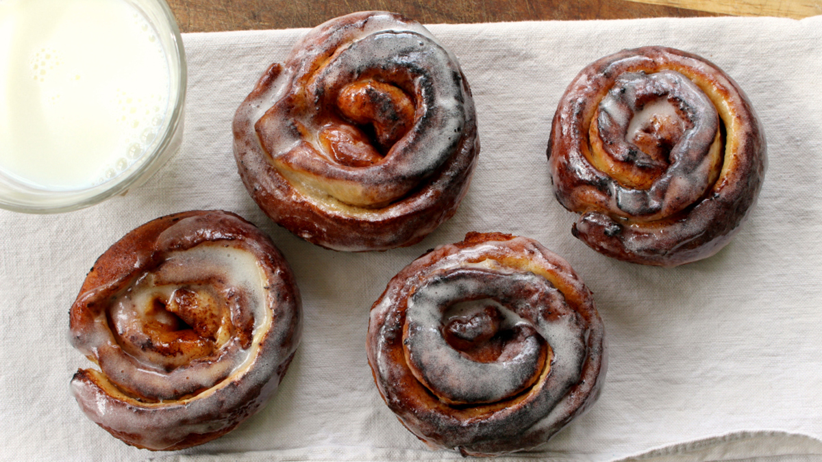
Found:
[{"label": "white milk surface inside the clear glass", "polygon": [[169,78],[125,0],[0,0],[0,174],[51,191],[116,177],[162,127]]}]

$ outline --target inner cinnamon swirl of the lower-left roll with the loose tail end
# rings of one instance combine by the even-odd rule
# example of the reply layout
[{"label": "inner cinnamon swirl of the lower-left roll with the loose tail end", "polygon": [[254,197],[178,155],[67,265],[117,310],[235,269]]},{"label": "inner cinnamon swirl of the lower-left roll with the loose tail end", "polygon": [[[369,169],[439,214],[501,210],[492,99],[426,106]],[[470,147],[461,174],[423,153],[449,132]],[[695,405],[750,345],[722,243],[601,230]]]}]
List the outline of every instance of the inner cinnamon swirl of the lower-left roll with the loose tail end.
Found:
[{"label": "inner cinnamon swirl of the lower-left roll with the loose tail end", "polygon": [[228,376],[236,363],[225,358],[250,346],[253,315],[237,306],[244,295],[213,276],[169,280],[178,269],[166,262],[137,277],[105,311],[122,358],[104,353],[100,367],[144,402],[196,395]]}]

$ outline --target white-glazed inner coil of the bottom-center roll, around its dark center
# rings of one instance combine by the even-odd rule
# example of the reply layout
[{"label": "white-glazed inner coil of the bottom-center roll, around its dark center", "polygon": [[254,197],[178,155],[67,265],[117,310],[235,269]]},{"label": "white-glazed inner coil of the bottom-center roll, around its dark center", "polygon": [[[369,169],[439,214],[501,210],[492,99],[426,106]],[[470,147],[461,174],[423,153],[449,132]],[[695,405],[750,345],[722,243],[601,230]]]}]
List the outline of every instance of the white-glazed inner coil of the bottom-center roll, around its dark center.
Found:
[{"label": "white-glazed inner coil of the bottom-center roll, around its dark center", "polygon": [[[509,307],[500,305],[500,311],[510,321],[519,319],[514,326],[520,323],[532,326],[551,345],[558,358],[552,374],[559,377],[557,380],[564,383],[562,388],[567,389],[576,378],[573,371],[582,365],[584,332],[577,325],[575,313],[565,305],[561,293],[533,273],[508,273],[491,280],[471,279],[471,272],[463,273],[464,277],[459,277],[455,271],[436,275],[423,282],[424,285],[409,298],[406,312],[409,333],[405,340],[410,354],[408,359],[417,365],[416,369],[422,369],[422,380],[426,385],[436,390],[436,395],[473,404],[505,400],[523,390],[535,373],[547,367],[536,364],[540,344],[535,337],[529,337],[524,344],[507,344],[494,363],[478,363],[465,358],[446,342],[441,334],[442,315],[455,300],[480,295],[500,297],[510,289],[540,288],[550,296],[543,294],[540,298],[513,300]],[[483,273],[487,271],[475,271],[473,275],[482,277]],[[506,294],[506,298],[510,296]],[[550,304],[545,306],[548,300]],[[555,315],[562,313],[562,316],[548,321],[543,315],[545,311]]]}]

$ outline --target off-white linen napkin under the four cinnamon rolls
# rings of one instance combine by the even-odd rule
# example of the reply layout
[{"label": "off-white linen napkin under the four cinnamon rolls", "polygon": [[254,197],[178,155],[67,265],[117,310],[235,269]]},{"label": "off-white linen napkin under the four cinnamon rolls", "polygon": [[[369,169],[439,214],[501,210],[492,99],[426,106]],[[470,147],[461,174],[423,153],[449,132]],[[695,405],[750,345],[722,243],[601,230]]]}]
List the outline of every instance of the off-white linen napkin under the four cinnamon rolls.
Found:
[{"label": "off-white linen napkin under the four cinnamon rolls", "polygon": [[[365,335],[390,277],[469,231],[528,236],[564,256],[593,290],[610,344],[593,409],[542,451],[501,460],[605,461],[649,450],[649,460],[822,455],[812,439],[822,437],[822,16],[430,30],[472,86],[482,150],[457,214],[423,243],[324,250],[272,224],[242,186],[234,110],[305,30],[184,35],[186,128],[164,169],[89,209],[0,211],[0,460],[459,460],[427,450],[382,402]],[[575,215],[554,199],[545,155],[556,104],[576,73],[652,44],[700,54],[731,75],[759,113],[769,150],[759,204],[733,242],[667,270],[608,259],[573,238]],[[67,340],[67,310],[97,256],[123,234],[192,209],[231,210],[270,234],[297,275],[304,336],[275,398],[234,432],[169,455],[136,450],[85,418],[69,393],[72,374],[90,363]],[[669,445],[679,446],[661,449]]]}]

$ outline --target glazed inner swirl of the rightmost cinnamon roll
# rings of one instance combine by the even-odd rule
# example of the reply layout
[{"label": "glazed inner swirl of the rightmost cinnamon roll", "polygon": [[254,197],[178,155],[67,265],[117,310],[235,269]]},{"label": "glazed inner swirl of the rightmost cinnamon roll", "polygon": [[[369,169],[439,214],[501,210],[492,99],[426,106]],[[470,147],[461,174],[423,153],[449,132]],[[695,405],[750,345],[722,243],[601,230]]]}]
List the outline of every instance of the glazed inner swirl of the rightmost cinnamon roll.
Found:
[{"label": "glazed inner swirl of the rightmost cinnamon roll", "polygon": [[704,195],[723,164],[717,109],[679,72],[626,72],[593,111],[589,161],[611,179],[611,215],[669,217]]}]

